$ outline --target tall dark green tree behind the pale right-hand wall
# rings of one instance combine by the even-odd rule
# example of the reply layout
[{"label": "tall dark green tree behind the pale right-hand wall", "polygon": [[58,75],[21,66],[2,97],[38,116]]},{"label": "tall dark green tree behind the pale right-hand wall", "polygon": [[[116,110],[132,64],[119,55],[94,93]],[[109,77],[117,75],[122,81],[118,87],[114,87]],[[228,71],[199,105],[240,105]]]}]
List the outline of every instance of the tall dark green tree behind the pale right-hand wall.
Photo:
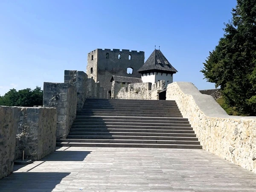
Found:
[{"label": "tall dark green tree behind the pale right-hand wall", "polygon": [[237,0],[232,15],[201,72],[229,106],[256,115],[256,0]]}]

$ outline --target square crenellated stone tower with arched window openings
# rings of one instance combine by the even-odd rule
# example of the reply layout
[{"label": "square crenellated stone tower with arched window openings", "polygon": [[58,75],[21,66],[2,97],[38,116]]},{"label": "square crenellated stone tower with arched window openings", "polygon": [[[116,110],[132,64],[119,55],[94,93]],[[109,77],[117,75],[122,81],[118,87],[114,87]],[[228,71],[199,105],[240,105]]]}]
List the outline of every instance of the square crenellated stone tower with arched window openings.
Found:
[{"label": "square crenellated stone tower with arched window openings", "polygon": [[99,81],[106,90],[111,91],[111,78],[113,75],[137,77],[137,70],[144,64],[143,51],[130,51],[127,49],[95,49],[87,55],[88,78]]}]

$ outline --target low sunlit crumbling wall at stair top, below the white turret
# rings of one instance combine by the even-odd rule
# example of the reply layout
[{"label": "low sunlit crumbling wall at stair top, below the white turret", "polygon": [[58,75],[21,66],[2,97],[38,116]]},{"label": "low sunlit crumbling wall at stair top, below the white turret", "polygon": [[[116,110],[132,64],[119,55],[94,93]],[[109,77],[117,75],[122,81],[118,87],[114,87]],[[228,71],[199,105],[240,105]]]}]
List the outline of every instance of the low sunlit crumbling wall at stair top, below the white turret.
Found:
[{"label": "low sunlit crumbling wall at stair top, below the white turret", "polygon": [[116,99],[144,99],[144,100],[158,100],[159,93],[166,90],[164,80],[160,80],[155,84],[151,83],[134,83],[127,87],[122,87],[117,93]]}]

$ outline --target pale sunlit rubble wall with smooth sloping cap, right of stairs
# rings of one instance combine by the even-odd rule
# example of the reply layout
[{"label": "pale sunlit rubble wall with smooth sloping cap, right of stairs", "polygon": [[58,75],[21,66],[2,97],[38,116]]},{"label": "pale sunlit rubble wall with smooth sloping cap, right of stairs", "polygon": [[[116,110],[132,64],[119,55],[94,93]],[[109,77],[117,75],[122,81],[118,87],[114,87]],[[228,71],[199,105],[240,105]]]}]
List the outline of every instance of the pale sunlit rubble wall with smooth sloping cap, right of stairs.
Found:
[{"label": "pale sunlit rubble wall with smooth sloping cap, right of stairs", "polygon": [[204,150],[256,172],[256,117],[229,116],[212,96],[189,82],[168,84],[166,100],[175,100]]}]

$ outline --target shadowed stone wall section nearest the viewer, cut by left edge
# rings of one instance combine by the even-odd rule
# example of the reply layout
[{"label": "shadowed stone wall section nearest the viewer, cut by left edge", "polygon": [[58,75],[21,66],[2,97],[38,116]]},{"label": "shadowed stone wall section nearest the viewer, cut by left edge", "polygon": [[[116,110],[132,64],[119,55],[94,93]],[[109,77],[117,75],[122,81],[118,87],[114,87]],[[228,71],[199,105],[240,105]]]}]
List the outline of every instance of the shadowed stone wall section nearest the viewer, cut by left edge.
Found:
[{"label": "shadowed stone wall section nearest the viewer, cut by left edge", "polygon": [[13,172],[18,109],[0,106],[0,179]]}]

